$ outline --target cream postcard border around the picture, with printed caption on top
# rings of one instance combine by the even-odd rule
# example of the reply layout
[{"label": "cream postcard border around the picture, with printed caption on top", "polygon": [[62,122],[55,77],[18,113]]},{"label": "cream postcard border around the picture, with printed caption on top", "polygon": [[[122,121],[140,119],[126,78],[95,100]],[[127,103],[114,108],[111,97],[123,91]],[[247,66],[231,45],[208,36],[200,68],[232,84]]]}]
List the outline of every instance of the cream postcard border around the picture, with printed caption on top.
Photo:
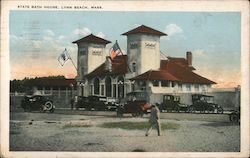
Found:
[{"label": "cream postcard border around the picture, with printed caption on top", "polygon": [[[101,5],[100,11],[241,12],[241,152],[9,152],[9,11],[18,5]],[[1,155],[2,157],[248,157],[249,156],[249,2],[239,1],[2,1],[1,4]],[[28,9],[37,10],[37,9]],[[53,10],[53,9],[39,9]],[[61,9],[57,9],[60,11]],[[74,10],[73,11],[84,11]],[[69,10],[69,11],[72,11]],[[99,11],[88,9],[85,11]]]}]

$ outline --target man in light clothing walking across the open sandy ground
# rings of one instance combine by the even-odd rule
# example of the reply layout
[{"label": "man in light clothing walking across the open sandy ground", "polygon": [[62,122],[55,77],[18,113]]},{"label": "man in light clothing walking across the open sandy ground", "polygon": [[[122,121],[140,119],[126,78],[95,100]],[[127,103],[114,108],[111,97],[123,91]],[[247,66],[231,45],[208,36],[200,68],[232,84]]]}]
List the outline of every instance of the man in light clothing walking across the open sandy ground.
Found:
[{"label": "man in light clothing walking across the open sandy ground", "polygon": [[152,128],[156,128],[158,132],[158,136],[160,136],[161,135],[160,111],[155,105],[152,105],[149,123],[150,123],[150,126],[146,131],[146,136],[149,135]]}]

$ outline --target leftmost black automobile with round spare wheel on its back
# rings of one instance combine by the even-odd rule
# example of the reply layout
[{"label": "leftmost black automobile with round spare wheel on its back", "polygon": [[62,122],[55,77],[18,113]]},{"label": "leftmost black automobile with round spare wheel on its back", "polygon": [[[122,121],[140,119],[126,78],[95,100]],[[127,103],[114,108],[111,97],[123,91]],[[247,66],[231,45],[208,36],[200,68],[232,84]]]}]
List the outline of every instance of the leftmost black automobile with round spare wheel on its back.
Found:
[{"label": "leftmost black automobile with round spare wheel on its back", "polygon": [[21,101],[24,111],[54,112],[55,106],[49,95],[26,95]]}]

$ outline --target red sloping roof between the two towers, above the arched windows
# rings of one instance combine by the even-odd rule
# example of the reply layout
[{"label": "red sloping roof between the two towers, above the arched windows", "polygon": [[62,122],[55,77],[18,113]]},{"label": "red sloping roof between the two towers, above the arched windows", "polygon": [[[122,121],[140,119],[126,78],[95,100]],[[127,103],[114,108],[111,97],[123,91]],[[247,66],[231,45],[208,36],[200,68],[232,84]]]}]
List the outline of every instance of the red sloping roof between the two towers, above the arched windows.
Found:
[{"label": "red sloping roof between the two towers, above the arched windows", "polygon": [[94,71],[87,74],[86,77],[105,76],[105,75],[123,75],[128,72],[127,55],[119,55],[112,62],[112,71],[105,69],[105,63],[97,67]]}]

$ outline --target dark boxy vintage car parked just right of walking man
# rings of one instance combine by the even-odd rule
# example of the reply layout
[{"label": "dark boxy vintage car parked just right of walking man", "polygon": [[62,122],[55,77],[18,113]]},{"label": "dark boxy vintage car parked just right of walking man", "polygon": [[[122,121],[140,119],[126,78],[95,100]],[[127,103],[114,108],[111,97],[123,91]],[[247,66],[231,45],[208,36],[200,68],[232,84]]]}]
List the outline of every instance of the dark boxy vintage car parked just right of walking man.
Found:
[{"label": "dark boxy vintage car parked just right of walking man", "polygon": [[180,103],[180,96],[176,95],[163,95],[163,102],[161,104],[156,104],[159,110],[162,112],[166,110],[167,112],[188,112],[188,105]]}]

